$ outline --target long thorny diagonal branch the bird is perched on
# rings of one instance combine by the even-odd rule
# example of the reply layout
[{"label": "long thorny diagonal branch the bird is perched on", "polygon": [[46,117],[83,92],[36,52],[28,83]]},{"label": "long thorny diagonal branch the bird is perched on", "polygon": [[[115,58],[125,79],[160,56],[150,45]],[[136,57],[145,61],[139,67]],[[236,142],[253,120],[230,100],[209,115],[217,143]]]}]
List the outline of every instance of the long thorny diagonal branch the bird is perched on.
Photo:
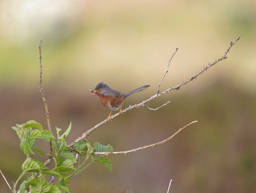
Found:
[{"label": "long thorny diagonal branch the bird is perched on", "polygon": [[[153,95],[151,96],[150,98],[148,98],[147,100],[143,100],[143,102],[140,102],[139,104],[135,104],[135,105],[130,105],[129,107],[127,107],[126,109],[124,109],[122,111],[122,114],[124,114],[125,112],[127,111],[131,111],[132,109],[135,109],[135,108],[140,108],[140,107],[143,107],[147,102],[150,102],[151,100],[154,100],[155,98],[157,97],[160,97],[166,93],[168,93],[169,91],[172,91],[172,90],[177,90],[177,89],[180,89],[180,87],[186,85],[188,82],[191,82],[193,81],[193,79],[196,79],[196,77],[198,77],[199,75],[201,75],[203,72],[205,72],[205,70],[208,70],[211,66],[213,65],[216,65],[216,63],[219,63],[220,61],[222,61],[223,59],[226,59],[227,58],[227,54],[229,52],[229,50],[232,48],[233,45],[235,45],[235,43],[239,40],[241,35],[239,35],[236,40],[234,40],[234,42],[231,42],[229,47],[227,48],[227,50],[225,51],[225,54],[223,56],[221,56],[220,58],[218,58],[216,61],[212,62],[212,63],[209,63],[207,66],[205,66],[200,72],[196,73],[195,75],[193,75],[192,77],[188,78],[187,81],[184,81],[182,82],[181,84],[178,84],[177,86],[173,86],[171,88],[168,88],[166,89],[165,91],[159,93],[159,94],[156,94],[156,95]],[[120,112],[117,112],[116,114],[114,114],[113,116],[110,117],[110,119],[114,119],[116,118],[117,116],[120,116]],[[81,141],[83,139],[86,139],[88,137],[88,135],[90,135],[95,129],[99,128],[100,126],[104,125],[105,123],[107,123],[108,120],[104,120],[102,122],[100,122],[99,124],[95,125],[94,127],[90,128],[89,130],[87,130],[86,132],[84,132],[80,137],[78,137],[74,142],[78,142],[78,141]],[[73,143],[69,144],[69,146],[72,146]]]}]

